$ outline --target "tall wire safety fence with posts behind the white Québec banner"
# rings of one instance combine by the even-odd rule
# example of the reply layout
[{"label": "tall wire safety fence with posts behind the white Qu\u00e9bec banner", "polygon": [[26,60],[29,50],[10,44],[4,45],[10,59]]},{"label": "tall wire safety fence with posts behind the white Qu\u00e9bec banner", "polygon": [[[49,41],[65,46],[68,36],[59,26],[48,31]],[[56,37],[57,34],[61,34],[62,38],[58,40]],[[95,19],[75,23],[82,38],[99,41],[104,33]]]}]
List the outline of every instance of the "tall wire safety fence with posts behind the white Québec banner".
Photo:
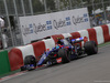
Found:
[{"label": "tall wire safety fence with posts behind the white Qu\u00e9bec banner", "polygon": [[[110,0],[0,0],[0,15],[6,21],[8,49],[23,44],[19,17],[88,8],[91,27],[110,23]],[[0,39],[2,50],[1,41]]]}]

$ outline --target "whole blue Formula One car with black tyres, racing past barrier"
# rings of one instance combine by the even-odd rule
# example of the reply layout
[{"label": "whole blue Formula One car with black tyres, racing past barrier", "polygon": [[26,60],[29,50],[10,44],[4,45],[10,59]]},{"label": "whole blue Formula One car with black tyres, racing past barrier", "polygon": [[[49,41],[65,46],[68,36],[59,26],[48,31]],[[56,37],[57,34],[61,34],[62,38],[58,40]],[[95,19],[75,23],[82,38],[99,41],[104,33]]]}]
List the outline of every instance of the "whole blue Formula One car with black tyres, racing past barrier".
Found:
[{"label": "whole blue Formula One car with black tyres, racing past barrier", "polygon": [[25,58],[25,65],[22,66],[22,69],[31,70],[43,64],[52,65],[56,63],[67,63],[74,59],[80,58],[84,54],[91,55],[98,53],[98,46],[95,41],[86,41],[84,46],[80,46],[79,43],[85,40],[86,38],[59,39],[56,46],[51,51],[45,51],[37,63],[33,56]]}]

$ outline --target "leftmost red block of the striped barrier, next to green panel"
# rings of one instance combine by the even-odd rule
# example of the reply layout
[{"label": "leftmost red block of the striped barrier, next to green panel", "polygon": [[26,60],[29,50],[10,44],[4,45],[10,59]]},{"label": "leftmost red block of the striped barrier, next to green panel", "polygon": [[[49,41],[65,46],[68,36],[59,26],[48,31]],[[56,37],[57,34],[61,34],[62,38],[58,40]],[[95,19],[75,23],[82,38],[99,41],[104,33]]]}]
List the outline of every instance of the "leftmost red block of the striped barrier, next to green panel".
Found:
[{"label": "leftmost red block of the striped barrier, next to green panel", "polygon": [[20,69],[23,65],[22,52],[19,49],[13,48],[9,52],[9,61],[11,71]]}]

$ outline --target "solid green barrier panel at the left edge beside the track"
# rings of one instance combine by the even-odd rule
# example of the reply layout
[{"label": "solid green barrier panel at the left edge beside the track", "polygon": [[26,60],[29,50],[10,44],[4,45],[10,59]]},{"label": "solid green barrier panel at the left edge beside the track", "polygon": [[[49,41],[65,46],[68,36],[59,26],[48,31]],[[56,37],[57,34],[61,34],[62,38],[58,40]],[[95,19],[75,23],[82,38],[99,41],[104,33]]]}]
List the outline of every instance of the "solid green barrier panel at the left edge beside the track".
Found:
[{"label": "solid green barrier panel at the left edge beside the track", "polygon": [[0,52],[0,75],[10,72],[8,51]]}]

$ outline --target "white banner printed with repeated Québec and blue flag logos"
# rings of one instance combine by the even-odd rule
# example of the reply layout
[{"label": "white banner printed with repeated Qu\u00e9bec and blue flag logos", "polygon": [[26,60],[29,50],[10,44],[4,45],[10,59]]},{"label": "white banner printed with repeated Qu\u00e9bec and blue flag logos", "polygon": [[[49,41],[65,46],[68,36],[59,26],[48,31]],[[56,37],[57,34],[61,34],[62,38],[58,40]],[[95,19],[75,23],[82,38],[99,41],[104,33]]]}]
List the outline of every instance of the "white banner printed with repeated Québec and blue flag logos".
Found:
[{"label": "white banner printed with repeated Qu\u00e9bec and blue flag logos", "polygon": [[87,8],[40,15],[20,17],[23,43],[53,34],[70,33],[90,28]]}]

